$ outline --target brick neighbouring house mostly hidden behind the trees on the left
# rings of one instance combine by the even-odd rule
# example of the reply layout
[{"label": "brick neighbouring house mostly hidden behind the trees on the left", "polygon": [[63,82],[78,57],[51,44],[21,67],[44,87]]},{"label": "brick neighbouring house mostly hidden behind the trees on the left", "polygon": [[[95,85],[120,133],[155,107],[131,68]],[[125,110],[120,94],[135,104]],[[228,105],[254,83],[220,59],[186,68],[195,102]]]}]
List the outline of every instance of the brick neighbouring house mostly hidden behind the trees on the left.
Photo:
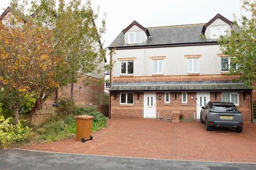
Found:
[{"label": "brick neighbouring house mostly hidden behind the trees on the left", "polygon": [[[7,7],[2,15],[0,15],[0,20],[3,20],[4,22],[4,20],[7,19],[10,14],[11,7]],[[95,26],[94,21],[92,21],[92,24]],[[98,44],[95,44],[95,46],[101,49],[103,48],[100,39],[98,41]],[[97,95],[104,94],[105,86],[104,82],[101,79],[105,76],[106,62],[107,59],[105,57],[104,60],[102,60],[101,63],[98,65],[94,73],[84,74],[81,78],[77,80],[76,84],[73,84],[73,87],[71,84],[68,84],[68,86],[55,90],[52,95],[45,100],[42,109],[39,111],[39,113],[42,113],[43,116],[37,115],[37,120],[34,119],[36,124],[39,124],[38,122],[42,122],[54,113],[55,107],[57,106],[59,99],[71,98],[71,94],[73,94],[73,99],[78,107],[97,106],[98,110],[102,111],[101,106],[96,104],[96,98]],[[98,70],[102,71],[98,72]],[[88,82],[90,82],[90,84]],[[73,90],[71,90],[72,88]],[[106,106],[103,107],[103,114],[108,115],[108,108],[105,107]]]}]

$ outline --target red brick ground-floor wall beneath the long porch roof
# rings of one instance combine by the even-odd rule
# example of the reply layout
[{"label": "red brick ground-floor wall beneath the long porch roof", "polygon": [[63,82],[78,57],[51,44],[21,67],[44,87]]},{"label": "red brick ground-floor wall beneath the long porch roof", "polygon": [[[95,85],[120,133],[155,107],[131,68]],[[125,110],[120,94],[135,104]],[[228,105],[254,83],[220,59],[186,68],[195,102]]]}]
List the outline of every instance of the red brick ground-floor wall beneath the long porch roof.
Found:
[{"label": "red brick ground-floor wall beneath the long porch roof", "polygon": [[[176,98],[175,98],[176,94]],[[217,95],[215,99],[215,94]],[[187,92],[188,103],[181,103],[181,92],[170,92],[170,104],[164,103],[164,92],[156,92],[156,117],[172,118],[172,111],[180,111],[184,120],[194,119],[196,116],[196,92]],[[162,96],[159,100],[158,96]],[[221,92],[210,92],[211,101],[221,101]],[[242,112],[244,122],[251,121],[250,94],[239,94],[239,111]],[[143,93],[134,93],[134,105],[119,105],[119,93],[111,94],[111,118],[143,118]]]}]

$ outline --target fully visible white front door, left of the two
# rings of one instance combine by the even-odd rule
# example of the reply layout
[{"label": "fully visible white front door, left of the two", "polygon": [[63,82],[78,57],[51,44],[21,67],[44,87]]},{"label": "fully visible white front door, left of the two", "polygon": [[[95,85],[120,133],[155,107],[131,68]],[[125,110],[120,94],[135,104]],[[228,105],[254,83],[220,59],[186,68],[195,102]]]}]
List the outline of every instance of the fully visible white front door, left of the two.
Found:
[{"label": "fully visible white front door, left of the two", "polygon": [[156,93],[144,93],[144,118],[156,118]]}]

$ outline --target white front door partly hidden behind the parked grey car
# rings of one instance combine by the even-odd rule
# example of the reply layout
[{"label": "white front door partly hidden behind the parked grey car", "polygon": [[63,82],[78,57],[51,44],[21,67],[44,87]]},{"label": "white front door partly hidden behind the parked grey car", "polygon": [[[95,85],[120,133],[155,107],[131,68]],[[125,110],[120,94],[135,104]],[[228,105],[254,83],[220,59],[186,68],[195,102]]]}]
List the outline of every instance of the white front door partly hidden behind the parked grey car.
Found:
[{"label": "white front door partly hidden behind the parked grey car", "polygon": [[196,92],[196,118],[200,118],[201,107],[210,101],[210,92]]}]

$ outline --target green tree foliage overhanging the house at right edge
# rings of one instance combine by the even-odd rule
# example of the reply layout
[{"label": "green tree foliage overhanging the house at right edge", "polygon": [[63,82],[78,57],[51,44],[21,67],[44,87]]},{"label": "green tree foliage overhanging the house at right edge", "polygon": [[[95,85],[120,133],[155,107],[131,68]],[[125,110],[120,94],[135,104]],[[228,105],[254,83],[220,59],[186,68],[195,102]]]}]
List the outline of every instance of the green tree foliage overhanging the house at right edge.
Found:
[{"label": "green tree foliage overhanging the house at right edge", "polygon": [[230,74],[241,74],[241,80],[252,88],[256,81],[256,1],[242,0],[242,9],[251,14],[250,18],[241,15],[241,25],[235,17],[231,35],[221,36],[220,48],[223,54],[230,56]]}]

